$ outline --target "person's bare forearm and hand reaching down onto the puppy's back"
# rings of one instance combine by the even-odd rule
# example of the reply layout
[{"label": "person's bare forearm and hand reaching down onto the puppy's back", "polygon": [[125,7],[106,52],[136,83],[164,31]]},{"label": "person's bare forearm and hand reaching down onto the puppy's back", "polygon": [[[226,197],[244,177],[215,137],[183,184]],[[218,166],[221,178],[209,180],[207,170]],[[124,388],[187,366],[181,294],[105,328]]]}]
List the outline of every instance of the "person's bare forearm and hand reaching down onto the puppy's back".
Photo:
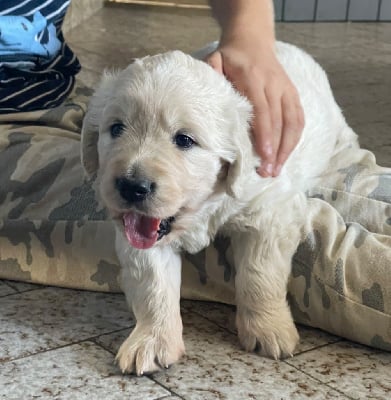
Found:
[{"label": "person's bare forearm and hand reaching down onto the puppy's back", "polygon": [[221,26],[207,62],[223,73],[253,106],[254,148],[261,176],[279,175],[298,143],[304,114],[296,88],[275,52],[272,0],[211,0]]}]

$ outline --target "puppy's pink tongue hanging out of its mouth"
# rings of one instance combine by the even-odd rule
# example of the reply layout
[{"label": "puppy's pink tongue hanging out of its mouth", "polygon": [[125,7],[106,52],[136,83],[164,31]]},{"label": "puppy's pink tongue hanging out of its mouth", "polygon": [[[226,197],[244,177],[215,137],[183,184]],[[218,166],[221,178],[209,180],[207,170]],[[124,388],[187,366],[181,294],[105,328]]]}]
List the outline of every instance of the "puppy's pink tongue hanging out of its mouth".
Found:
[{"label": "puppy's pink tongue hanging out of its mouth", "polygon": [[130,212],[123,216],[125,234],[136,249],[149,249],[158,238],[160,219]]}]

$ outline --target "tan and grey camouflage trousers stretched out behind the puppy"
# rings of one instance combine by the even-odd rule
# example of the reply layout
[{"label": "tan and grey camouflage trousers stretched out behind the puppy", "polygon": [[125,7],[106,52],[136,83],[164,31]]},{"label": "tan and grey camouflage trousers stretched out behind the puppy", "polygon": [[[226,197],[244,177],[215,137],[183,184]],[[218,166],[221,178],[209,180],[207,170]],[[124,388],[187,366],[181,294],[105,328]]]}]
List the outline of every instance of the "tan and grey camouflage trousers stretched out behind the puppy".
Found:
[{"label": "tan and grey camouflage trousers stretched out behind the puppy", "polygon": [[[0,116],[0,278],[119,291],[114,229],[79,159],[90,90]],[[289,300],[297,322],[391,350],[391,170],[343,148],[308,193]],[[229,240],[184,255],[182,295],[234,303]]]}]

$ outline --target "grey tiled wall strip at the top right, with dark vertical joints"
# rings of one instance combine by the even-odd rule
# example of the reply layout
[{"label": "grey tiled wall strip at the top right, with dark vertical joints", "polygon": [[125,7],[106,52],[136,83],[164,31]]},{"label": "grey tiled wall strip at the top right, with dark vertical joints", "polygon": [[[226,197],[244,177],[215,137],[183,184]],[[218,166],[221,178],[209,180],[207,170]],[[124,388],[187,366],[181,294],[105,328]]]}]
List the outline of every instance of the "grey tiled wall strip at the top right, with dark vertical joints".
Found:
[{"label": "grey tiled wall strip at the top right, with dark vertical joints", "polygon": [[273,0],[278,21],[391,21],[391,0]]}]

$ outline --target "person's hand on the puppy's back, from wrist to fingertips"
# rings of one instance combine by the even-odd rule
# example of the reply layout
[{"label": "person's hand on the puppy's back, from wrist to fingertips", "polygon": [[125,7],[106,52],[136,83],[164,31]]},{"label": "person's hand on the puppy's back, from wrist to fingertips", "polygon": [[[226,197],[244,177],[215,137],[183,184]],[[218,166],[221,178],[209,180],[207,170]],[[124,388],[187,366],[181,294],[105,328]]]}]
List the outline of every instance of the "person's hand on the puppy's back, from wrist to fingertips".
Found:
[{"label": "person's hand on the puppy's back, from wrist to fingertips", "polygon": [[252,103],[254,147],[261,158],[258,173],[268,177],[279,175],[298,143],[304,113],[273,47],[260,48],[258,42],[248,38],[221,42],[206,61]]}]

